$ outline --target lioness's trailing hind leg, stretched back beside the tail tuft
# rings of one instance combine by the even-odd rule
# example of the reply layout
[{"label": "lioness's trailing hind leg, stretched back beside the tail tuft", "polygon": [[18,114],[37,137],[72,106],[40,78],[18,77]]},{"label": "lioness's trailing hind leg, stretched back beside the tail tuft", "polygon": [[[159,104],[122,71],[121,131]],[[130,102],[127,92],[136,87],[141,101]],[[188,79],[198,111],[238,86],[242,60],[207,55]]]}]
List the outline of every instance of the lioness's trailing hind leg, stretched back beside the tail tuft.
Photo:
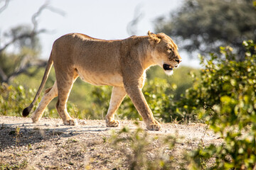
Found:
[{"label": "lioness's trailing hind leg, stretched back beside the tail tuft", "polygon": [[52,101],[53,98],[55,98],[56,96],[58,96],[58,91],[57,91],[57,84],[55,81],[52,87],[50,87],[49,89],[46,89],[46,93],[43,95],[43,98],[38,104],[36,111],[31,116],[33,123],[38,122],[38,120],[42,118],[43,112],[46,110],[46,107],[48,106],[50,101]]}]

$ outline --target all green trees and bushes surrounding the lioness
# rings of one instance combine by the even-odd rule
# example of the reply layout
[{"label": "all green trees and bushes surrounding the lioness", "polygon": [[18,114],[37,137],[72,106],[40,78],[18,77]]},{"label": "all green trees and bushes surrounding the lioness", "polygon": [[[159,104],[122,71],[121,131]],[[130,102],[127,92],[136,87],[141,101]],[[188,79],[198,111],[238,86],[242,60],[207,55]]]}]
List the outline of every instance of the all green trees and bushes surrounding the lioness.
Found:
[{"label": "all green trees and bushes surrounding the lioness", "polygon": [[[184,159],[189,166],[184,166],[184,169],[256,169],[255,6],[256,2],[250,0],[188,0],[169,18],[156,19],[156,32],[169,34],[187,52],[201,54],[201,68],[180,67],[172,77],[166,77],[159,67],[148,70],[143,91],[154,116],[166,123],[206,123],[224,141],[219,146],[205,146],[202,141],[198,148],[187,153]],[[23,29],[31,31],[23,27],[16,28],[16,32],[11,29],[13,34],[6,33],[7,40],[21,37]],[[7,77],[1,74],[0,78],[1,115],[20,116],[22,109],[33,100],[41,81],[43,69],[38,68],[43,62],[23,64],[21,60],[28,56],[38,60],[39,40],[36,37],[25,38],[30,41],[18,38],[12,44],[18,47],[16,52],[7,51],[5,46],[0,50],[0,71]],[[17,68],[26,68],[26,72],[16,75]],[[46,86],[53,82],[54,72],[51,72]],[[109,86],[90,86],[78,79],[68,102],[70,115],[82,119],[104,118],[111,89]],[[44,116],[58,117],[54,104],[52,101]],[[117,117],[140,119],[128,97],[117,111]],[[145,169],[172,167],[172,161],[160,159],[157,164],[161,166],[150,167],[146,163],[149,160],[136,154],[137,145],[142,146],[142,153],[146,152],[143,150],[147,141],[143,130],[138,128],[132,133],[124,129],[122,133],[129,137],[119,138],[114,134],[112,142],[127,142],[134,149],[129,158],[134,160],[137,156],[142,160],[134,161],[131,169],[137,169],[137,166]],[[137,135],[139,133],[142,135]],[[174,147],[173,138],[169,145]]]}]

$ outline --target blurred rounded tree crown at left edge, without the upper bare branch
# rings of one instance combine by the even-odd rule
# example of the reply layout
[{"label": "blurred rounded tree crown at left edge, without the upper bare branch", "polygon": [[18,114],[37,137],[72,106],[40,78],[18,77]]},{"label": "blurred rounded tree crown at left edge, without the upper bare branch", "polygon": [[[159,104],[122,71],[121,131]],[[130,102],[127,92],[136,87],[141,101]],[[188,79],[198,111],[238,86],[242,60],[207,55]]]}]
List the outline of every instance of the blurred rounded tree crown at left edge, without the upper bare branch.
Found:
[{"label": "blurred rounded tree crown at left edge, without the upper bare branch", "polygon": [[33,35],[30,26],[16,26],[4,33],[0,39],[0,82],[9,83],[21,73],[33,77],[26,69],[40,52],[38,35]]}]

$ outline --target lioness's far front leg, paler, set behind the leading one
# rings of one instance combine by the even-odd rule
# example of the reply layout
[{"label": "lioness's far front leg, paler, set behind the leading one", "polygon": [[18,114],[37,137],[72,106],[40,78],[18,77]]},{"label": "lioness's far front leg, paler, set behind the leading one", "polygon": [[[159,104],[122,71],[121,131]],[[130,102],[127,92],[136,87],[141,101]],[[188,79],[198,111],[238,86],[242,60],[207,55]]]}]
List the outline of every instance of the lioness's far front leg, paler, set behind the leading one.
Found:
[{"label": "lioness's far front leg, paler, set behind the leading one", "polygon": [[126,91],[123,87],[113,87],[110,99],[110,107],[108,108],[107,115],[105,116],[106,124],[108,127],[119,126],[119,121],[114,120],[114,113],[117,111],[117,108],[119,108],[125,95]]}]

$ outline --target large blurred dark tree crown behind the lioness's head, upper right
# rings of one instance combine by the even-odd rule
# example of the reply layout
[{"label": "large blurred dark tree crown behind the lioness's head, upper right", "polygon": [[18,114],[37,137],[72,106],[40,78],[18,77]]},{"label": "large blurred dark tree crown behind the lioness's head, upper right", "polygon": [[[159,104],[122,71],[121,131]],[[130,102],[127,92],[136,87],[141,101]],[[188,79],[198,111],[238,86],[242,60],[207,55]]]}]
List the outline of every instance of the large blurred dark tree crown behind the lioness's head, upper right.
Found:
[{"label": "large blurred dark tree crown behind the lioness's head, upper right", "polygon": [[169,18],[156,19],[155,27],[188,52],[206,55],[217,52],[220,45],[230,45],[240,53],[242,40],[256,40],[255,16],[252,0],[186,0]]}]

